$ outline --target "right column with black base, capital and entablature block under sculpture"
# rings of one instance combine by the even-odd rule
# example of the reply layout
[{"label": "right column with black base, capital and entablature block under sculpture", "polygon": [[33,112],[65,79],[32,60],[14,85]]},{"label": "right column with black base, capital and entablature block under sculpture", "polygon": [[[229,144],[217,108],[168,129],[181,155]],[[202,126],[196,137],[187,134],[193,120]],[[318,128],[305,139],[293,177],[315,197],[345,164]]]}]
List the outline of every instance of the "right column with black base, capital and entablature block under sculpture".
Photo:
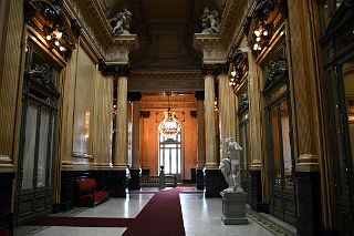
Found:
[{"label": "right column with black base, capital and entablature block under sculpture", "polygon": [[215,75],[227,62],[225,45],[217,35],[196,33],[194,47],[202,51],[205,74],[205,121],[206,121],[206,197],[220,197],[220,192],[227,188],[225,178],[219,170],[217,153],[217,121],[215,112]]}]

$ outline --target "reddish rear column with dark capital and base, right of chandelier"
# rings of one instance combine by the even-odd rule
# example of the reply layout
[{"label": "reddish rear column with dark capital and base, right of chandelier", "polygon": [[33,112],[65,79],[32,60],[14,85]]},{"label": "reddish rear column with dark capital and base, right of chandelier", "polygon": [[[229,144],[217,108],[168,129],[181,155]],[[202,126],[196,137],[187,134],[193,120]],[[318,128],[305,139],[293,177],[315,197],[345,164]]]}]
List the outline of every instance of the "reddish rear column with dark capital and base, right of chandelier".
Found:
[{"label": "reddish rear column with dark capital and base, right of chandelier", "polygon": [[197,119],[198,119],[198,150],[197,150],[197,189],[204,189],[204,168],[206,165],[206,127],[205,127],[205,114],[204,114],[204,91],[196,92],[197,99]]}]

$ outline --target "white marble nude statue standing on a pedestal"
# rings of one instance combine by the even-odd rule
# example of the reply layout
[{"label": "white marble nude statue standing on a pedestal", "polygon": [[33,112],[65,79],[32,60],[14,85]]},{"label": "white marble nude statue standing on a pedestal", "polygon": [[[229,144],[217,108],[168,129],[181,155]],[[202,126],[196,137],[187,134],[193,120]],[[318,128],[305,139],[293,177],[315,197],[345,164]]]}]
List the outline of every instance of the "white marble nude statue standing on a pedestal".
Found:
[{"label": "white marble nude statue standing on a pedestal", "polygon": [[240,160],[238,156],[238,152],[241,151],[242,147],[235,142],[232,137],[226,138],[225,143],[227,147],[227,154],[220,163],[221,173],[229,185],[229,187],[225,191],[243,192],[240,178]]}]

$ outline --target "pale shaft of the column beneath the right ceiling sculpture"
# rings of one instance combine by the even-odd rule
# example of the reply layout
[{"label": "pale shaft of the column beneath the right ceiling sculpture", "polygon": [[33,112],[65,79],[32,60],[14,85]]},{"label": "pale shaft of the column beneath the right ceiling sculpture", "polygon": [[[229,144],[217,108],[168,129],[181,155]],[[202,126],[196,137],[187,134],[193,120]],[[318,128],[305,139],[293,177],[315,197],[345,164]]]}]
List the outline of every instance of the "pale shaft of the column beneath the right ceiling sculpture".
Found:
[{"label": "pale shaft of the column beneath the right ceiling sculpture", "polygon": [[205,76],[205,120],[206,120],[206,170],[217,170],[219,164],[216,151],[216,114],[215,102],[215,78],[211,74]]}]

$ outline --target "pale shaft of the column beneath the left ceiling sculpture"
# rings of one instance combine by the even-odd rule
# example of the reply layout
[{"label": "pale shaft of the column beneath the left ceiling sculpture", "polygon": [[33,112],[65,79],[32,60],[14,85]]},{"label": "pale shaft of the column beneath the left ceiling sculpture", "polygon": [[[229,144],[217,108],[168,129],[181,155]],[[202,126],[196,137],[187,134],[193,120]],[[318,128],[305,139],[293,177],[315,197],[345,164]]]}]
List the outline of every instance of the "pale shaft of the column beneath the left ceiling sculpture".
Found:
[{"label": "pale shaft of the column beneath the left ceiling sculpture", "polygon": [[117,115],[114,166],[126,170],[127,153],[127,76],[119,76],[117,81]]}]

